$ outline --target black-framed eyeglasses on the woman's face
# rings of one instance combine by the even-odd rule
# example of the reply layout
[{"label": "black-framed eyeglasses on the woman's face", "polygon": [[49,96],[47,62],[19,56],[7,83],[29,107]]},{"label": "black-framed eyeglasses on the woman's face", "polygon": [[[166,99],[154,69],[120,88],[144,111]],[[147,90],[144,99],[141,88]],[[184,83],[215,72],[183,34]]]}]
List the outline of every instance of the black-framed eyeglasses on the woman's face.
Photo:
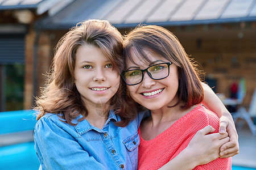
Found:
[{"label": "black-framed eyeglasses on the woman's face", "polygon": [[141,83],[144,77],[144,72],[147,72],[150,78],[154,80],[160,80],[160,79],[167,78],[167,76],[170,74],[171,64],[172,64],[171,62],[164,62],[164,63],[158,63],[155,65],[152,65],[150,67],[147,67],[147,69],[144,69],[144,70],[134,69],[134,70],[123,71],[121,76],[123,80],[125,80],[125,83],[130,86]]}]

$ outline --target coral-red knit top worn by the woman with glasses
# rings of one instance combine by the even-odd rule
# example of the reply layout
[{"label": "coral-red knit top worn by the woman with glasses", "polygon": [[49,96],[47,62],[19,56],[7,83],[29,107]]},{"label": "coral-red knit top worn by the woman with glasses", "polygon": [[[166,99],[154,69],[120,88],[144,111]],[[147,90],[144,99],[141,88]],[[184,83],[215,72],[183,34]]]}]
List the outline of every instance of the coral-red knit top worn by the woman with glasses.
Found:
[{"label": "coral-red knit top worn by the woman with glasses", "polygon": [[[211,125],[216,129],[214,133],[218,133],[217,115],[199,105],[150,141],[144,141],[141,138],[141,128],[139,128],[141,143],[139,145],[138,169],[162,167],[184,150],[196,132],[207,125]],[[208,164],[199,165],[195,169],[231,169],[231,158],[218,158]]]}]

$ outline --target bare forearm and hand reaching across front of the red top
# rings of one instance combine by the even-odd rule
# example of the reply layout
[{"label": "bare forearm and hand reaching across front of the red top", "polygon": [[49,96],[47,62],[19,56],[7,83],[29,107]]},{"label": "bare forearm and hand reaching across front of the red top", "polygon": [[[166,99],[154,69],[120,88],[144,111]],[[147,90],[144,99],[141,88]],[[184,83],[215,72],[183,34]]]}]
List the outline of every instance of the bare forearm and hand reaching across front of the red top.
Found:
[{"label": "bare forearm and hand reaching across front of the red top", "polygon": [[[199,130],[188,146],[174,159],[160,169],[188,170],[198,165],[207,164],[219,157],[219,148],[229,141],[228,133],[213,133],[212,126]],[[209,134],[208,133],[213,133]]]}]

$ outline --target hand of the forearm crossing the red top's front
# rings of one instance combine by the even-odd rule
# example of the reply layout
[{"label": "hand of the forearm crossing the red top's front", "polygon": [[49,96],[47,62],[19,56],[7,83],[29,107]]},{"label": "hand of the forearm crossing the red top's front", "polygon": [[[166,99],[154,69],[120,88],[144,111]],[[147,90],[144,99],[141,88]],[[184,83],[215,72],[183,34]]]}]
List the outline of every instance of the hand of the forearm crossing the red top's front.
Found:
[{"label": "hand of the forearm crossing the red top's front", "polygon": [[229,142],[228,133],[213,132],[214,128],[212,126],[206,126],[204,129],[197,131],[189,142],[187,148],[192,154],[191,158],[193,158],[192,161],[195,165],[207,164],[220,157],[220,147]]}]

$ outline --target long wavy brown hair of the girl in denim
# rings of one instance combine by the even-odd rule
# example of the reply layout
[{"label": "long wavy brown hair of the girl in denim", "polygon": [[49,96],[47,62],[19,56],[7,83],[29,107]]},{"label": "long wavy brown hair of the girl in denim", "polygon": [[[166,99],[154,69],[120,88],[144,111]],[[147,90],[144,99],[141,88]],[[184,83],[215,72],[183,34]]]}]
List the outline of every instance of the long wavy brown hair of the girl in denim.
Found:
[{"label": "long wavy brown hair of the girl in denim", "polygon": [[[119,74],[123,71],[121,33],[106,20],[86,20],[78,23],[60,39],[56,46],[46,86],[42,90],[42,96],[36,98],[34,109],[39,113],[37,120],[46,113],[55,113],[64,118],[68,124],[76,125],[72,120],[79,114],[83,116],[79,121],[88,116],[86,106],[82,103],[75,86],[74,75],[76,51],[79,46],[86,44],[100,48],[112,62],[113,68]],[[130,108],[122,97],[123,93],[119,88],[112,97],[109,108],[114,109],[121,117],[121,121],[116,123],[119,126],[126,126],[136,116],[134,109]]]}]

